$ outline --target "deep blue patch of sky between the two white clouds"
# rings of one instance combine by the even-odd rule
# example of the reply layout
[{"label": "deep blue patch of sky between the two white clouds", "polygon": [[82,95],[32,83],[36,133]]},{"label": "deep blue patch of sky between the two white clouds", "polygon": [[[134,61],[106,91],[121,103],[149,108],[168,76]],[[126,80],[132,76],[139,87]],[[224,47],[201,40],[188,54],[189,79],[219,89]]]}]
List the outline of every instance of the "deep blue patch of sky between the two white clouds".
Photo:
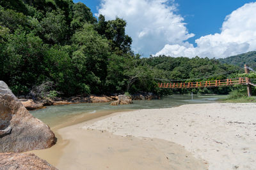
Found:
[{"label": "deep blue patch of sky between the two white clouds", "polygon": [[195,37],[188,39],[189,43],[195,43],[195,39],[207,34],[220,32],[223,20],[227,15],[248,0],[176,0],[179,4],[179,13],[184,16],[190,32]]}]

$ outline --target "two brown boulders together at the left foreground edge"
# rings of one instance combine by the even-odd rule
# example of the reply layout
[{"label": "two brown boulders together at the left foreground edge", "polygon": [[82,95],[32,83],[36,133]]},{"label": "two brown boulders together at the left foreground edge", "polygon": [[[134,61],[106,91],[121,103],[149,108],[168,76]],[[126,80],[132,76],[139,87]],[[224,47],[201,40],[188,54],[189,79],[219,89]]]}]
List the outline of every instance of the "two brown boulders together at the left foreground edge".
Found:
[{"label": "two brown boulders together at the left foreground edge", "polygon": [[[6,83],[0,81],[0,152],[4,152],[0,155],[0,167],[29,169],[33,164],[36,169],[40,169],[38,167],[41,166],[41,169],[45,169],[47,162],[44,160],[38,159],[35,155],[18,153],[49,148],[55,143],[56,137],[51,129],[33,117]],[[29,164],[31,160],[35,162]],[[24,168],[20,168],[22,166]]]}]

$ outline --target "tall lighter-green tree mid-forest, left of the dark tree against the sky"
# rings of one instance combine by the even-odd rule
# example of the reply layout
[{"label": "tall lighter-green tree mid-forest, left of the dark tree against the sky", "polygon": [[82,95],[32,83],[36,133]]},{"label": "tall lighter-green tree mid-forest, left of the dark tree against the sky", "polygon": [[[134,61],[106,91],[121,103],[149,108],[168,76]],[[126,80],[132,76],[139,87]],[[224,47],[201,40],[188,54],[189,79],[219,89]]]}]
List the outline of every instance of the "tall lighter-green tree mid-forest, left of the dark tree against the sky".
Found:
[{"label": "tall lighter-green tree mid-forest, left of the dark tree against the sky", "polygon": [[102,92],[102,86],[107,76],[108,65],[108,41],[102,38],[94,26],[84,24],[81,31],[77,31],[72,37],[72,43],[76,50],[72,54],[77,76],[81,78],[81,86],[90,85],[92,92]]}]

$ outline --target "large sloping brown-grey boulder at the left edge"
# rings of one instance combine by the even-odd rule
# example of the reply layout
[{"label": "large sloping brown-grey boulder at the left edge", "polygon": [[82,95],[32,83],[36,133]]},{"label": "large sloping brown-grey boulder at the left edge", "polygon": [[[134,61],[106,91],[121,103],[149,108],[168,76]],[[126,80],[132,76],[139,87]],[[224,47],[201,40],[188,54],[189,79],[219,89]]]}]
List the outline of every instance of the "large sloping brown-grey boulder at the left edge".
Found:
[{"label": "large sloping brown-grey boulder at the left edge", "polygon": [[51,129],[33,117],[0,81],[0,152],[26,152],[56,143]]}]

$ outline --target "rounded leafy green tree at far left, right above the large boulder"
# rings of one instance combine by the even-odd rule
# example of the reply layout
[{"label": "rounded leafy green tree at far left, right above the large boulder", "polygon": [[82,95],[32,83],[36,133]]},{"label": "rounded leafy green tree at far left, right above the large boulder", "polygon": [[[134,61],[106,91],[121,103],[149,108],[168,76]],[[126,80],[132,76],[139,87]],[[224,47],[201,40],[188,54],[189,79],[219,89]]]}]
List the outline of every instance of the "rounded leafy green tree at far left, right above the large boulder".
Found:
[{"label": "rounded leafy green tree at far left, right above the large boulder", "polygon": [[44,74],[42,63],[47,46],[43,45],[42,39],[17,29],[5,45],[3,72],[9,85],[26,88],[35,85],[38,76]]}]

